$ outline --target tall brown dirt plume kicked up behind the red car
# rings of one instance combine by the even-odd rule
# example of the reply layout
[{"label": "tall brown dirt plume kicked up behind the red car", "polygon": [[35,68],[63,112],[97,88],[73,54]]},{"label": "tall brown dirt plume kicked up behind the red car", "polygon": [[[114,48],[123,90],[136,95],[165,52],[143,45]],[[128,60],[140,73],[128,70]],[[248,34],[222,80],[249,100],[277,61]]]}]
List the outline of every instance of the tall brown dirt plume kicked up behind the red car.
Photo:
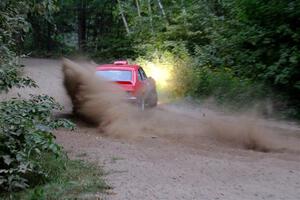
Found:
[{"label": "tall brown dirt plume kicked up behind the red car", "polygon": [[[130,118],[138,118],[135,107],[126,103],[121,89],[95,75],[95,68],[63,59],[64,86],[73,104],[73,113],[99,127],[105,134],[133,137],[139,132]],[[130,114],[130,116],[129,116]]]}]

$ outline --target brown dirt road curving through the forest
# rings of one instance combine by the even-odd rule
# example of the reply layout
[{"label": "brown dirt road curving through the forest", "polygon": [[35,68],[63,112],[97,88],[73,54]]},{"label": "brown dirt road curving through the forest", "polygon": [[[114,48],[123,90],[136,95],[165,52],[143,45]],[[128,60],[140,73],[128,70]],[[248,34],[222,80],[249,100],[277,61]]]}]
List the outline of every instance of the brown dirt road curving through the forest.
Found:
[{"label": "brown dirt road curving through the forest", "polygon": [[[62,87],[60,62],[26,59],[24,64],[26,73],[40,86],[25,93],[52,95],[65,106],[64,112],[69,113],[71,105]],[[272,130],[286,133],[280,139],[285,146],[263,153],[247,150],[235,142],[195,135],[202,127],[199,118],[207,117],[207,114],[203,116],[203,109],[179,109],[172,105],[160,105],[156,109],[170,117],[154,121],[153,126],[164,125],[163,130],[168,134],[153,129],[153,134],[135,138],[104,137],[95,127],[78,122],[75,133],[58,131],[57,141],[72,158],[104,166],[113,187],[108,199],[300,199],[300,128],[297,125],[270,123]],[[180,118],[172,121],[171,116],[178,115]],[[225,124],[236,123],[230,117],[224,118],[228,119]],[[183,123],[184,120],[187,122]],[[218,130],[226,129],[227,126],[221,126]]]}]

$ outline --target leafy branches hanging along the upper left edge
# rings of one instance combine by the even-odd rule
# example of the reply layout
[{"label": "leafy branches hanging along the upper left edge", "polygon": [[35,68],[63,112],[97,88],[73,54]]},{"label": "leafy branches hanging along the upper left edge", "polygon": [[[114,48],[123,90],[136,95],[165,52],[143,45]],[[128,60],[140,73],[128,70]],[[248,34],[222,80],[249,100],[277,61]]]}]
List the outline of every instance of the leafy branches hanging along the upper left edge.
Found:
[{"label": "leafy branches hanging along the upper left edge", "polygon": [[28,77],[21,77],[20,64],[14,52],[21,33],[27,30],[24,15],[28,6],[23,1],[0,3],[0,93],[14,86],[36,86]]}]

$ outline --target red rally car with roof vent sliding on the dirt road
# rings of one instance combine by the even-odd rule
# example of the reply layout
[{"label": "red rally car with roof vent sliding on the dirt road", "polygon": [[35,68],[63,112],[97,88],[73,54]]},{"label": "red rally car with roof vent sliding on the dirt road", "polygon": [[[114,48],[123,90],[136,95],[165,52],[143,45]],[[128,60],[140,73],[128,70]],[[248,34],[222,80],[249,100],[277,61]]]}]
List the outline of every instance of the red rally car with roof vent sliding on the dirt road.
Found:
[{"label": "red rally car with roof vent sliding on the dirt road", "polygon": [[155,81],[147,77],[139,65],[131,65],[127,61],[116,61],[113,64],[98,66],[96,75],[120,85],[128,94],[128,99],[137,103],[142,110],[145,107],[157,105]]}]

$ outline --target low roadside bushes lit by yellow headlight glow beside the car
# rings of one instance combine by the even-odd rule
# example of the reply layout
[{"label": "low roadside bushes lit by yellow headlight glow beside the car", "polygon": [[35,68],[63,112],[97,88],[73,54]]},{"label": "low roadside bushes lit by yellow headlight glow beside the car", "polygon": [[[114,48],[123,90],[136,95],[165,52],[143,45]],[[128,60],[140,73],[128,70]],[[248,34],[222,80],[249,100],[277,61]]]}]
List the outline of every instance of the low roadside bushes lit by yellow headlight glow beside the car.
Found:
[{"label": "low roadside bushes lit by yellow headlight glow beside the car", "polygon": [[[189,55],[184,47],[176,50],[176,53],[157,50],[147,57],[139,57],[136,62],[143,66],[148,75],[154,78],[158,75],[157,86],[163,98],[165,95],[190,96],[202,100],[213,98],[218,105],[243,109],[273,95],[264,84],[238,77],[231,68],[217,69],[203,65],[198,58]],[[156,73],[151,74],[153,71]],[[164,82],[166,84],[161,85]]]}]

